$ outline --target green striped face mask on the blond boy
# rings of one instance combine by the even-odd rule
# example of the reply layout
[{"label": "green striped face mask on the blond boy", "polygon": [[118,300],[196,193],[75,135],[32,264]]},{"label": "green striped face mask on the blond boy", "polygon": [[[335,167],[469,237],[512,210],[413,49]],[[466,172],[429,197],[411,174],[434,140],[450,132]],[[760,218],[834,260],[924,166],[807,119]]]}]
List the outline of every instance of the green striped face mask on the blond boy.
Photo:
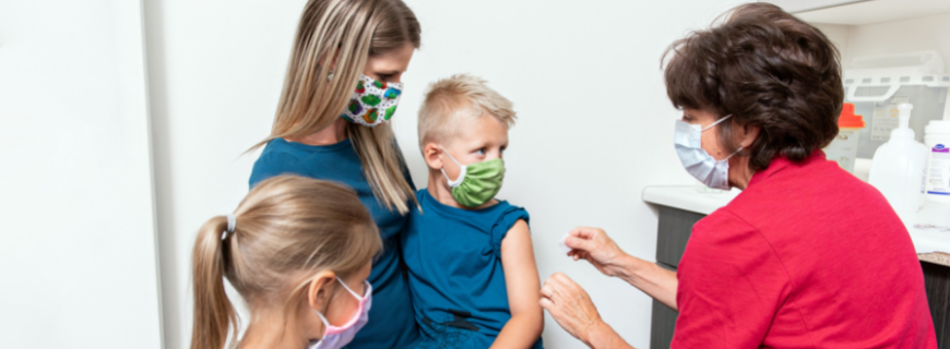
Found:
[{"label": "green striped face mask on the blond boy", "polygon": [[[441,148],[441,147],[440,147]],[[449,186],[452,188],[452,197],[465,207],[478,207],[494,198],[501,190],[501,182],[504,180],[504,160],[497,158],[472,165],[462,165],[455,161],[449,152],[442,149],[446,155],[452,159],[452,163],[459,165],[459,178],[454,181],[446,174],[442,169],[442,176],[449,180]]]}]

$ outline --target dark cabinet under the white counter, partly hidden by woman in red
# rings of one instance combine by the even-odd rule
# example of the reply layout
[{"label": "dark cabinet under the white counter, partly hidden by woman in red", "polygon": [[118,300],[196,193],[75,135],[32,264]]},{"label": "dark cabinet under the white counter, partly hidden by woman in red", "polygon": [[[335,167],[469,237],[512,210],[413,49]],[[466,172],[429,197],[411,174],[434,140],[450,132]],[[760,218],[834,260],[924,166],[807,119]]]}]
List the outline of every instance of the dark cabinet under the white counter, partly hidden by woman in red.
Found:
[{"label": "dark cabinet under the white counter, partly hidden by woman in red", "polygon": [[[678,208],[660,207],[660,227],[656,239],[656,264],[670,270],[676,270],[692,226],[705,215]],[[921,262],[924,268],[924,279],[927,287],[927,299],[930,315],[934,316],[934,328],[937,332],[937,344],[940,349],[950,349],[950,267]],[[673,340],[676,327],[676,311],[653,301],[652,324],[650,329],[650,348],[666,349]]]}]

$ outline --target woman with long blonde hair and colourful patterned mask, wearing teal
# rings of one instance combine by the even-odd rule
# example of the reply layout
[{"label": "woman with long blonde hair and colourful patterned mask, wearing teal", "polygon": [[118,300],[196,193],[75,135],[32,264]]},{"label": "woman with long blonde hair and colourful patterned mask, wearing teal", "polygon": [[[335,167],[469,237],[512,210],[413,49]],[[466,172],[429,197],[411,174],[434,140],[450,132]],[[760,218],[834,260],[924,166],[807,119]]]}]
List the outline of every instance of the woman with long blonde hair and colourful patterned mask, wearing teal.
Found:
[{"label": "woman with long blonde hair and colourful patterned mask, wearing teal", "polygon": [[283,93],[250,185],[282,173],[353,188],[376,221],[383,252],[369,281],[370,322],[348,348],[407,348],[417,338],[399,236],[414,186],[388,122],[401,77],[420,45],[419,23],[401,0],[310,0]]}]

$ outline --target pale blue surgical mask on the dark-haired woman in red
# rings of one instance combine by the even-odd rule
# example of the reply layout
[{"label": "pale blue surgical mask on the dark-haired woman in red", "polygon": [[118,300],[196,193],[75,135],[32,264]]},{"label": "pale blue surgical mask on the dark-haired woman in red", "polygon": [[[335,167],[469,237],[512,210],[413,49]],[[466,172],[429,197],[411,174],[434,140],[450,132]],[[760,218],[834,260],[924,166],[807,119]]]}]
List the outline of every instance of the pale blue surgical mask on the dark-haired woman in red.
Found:
[{"label": "pale blue surgical mask on the dark-haired woman in red", "polygon": [[729,189],[729,158],[743,148],[739,147],[738,151],[726,158],[716,160],[702,148],[702,133],[732,117],[732,115],[728,115],[725,118],[719,119],[705,129],[681,120],[676,121],[676,133],[673,142],[676,145],[676,154],[679,155],[679,160],[682,161],[682,167],[686,168],[689,174],[692,174],[692,177],[696,177],[700,182],[712,189]]}]

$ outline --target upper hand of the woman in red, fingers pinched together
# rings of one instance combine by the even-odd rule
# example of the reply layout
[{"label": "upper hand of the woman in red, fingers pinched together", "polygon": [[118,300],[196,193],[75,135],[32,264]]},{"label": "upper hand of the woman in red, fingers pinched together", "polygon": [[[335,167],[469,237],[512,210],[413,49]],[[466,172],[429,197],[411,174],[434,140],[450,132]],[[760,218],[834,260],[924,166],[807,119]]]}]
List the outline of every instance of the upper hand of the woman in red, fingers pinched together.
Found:
[{"label": "upper hand of the woman in red, fingers pinched together", "polygon": [[568,256],[586,260],[606,276],[622,276],[627,272],[621,265],[627,253],[601,228],[574,228],[565,244],[571,248]]}]

